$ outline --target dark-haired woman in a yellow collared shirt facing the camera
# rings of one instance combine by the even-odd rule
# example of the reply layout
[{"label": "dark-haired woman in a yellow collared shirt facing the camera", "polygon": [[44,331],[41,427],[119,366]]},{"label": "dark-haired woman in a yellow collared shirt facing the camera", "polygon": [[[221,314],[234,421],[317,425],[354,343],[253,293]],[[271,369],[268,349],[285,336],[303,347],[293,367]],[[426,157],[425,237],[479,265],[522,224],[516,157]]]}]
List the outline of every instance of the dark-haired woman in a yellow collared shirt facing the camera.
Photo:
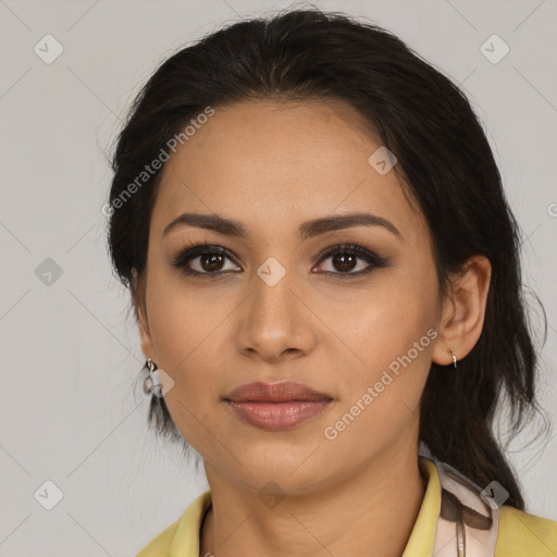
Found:
[{"label": "dark-haired woman in a yellow collared shirt facing the camera", "polygon": [[339,14],[238,23],[158,69],[113,169],[149,421],[210,486],[140,557],[555,555],[491,429],[536,356],[449,79]]}]

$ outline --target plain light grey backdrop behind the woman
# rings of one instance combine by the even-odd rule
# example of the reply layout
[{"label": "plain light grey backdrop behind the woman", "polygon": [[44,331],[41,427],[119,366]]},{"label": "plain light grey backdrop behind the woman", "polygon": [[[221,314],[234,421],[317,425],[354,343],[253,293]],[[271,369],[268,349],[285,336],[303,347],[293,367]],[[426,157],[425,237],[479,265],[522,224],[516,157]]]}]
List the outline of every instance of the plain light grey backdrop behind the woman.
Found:
[{"label": "plain light grey backdrop behind the woman", "polygon": [[[135,555],[207,488],[147,429],[138,335],[106,250],[106,154],[162,60],[224,24],[294,5],[307,4],[0,0],[1,556]],[[557,520],[557,4],[314,5],[394,32],[461,85],[487,131],[524,235],[523,282],[549,324],[539,394],[554,431],[530,444],[524,432],[510,460],[528,510]],[[495,54],[509,48],[497,63],[482,52],[488,39]]]}]

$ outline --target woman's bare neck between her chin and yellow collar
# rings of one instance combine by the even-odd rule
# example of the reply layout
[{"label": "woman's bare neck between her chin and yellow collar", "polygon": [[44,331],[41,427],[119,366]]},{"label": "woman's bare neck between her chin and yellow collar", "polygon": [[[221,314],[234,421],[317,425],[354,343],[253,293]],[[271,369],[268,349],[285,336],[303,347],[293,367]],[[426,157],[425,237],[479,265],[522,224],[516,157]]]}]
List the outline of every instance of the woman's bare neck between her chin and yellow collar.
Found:
[{"label": "woman's bare neck between her chin and yellow collar", "polygon": [[418,449],[377,458],[341,483],[285,494],[273,508],[206,463],[212,508],[200,555],[366,555],[400,557],[425,491]]}]

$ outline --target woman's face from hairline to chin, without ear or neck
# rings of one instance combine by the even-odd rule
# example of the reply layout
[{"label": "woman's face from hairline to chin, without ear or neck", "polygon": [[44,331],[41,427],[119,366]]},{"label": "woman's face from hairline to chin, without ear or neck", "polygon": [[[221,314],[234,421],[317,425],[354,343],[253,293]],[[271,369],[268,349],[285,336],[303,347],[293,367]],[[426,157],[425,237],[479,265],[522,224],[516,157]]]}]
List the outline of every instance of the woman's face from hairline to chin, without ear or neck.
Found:
[{"label": "woman's face from hairline to chin, without ear or neck", "polygon": [[[166,162],[141,343],[215,473],[296,493],[416,453],[437,277],[399,176],[369,162],[380,146],[341,104],[242,102]],[[234,398],[253,382],[268,388]],[[286,382],[318,395],[269,386]]]}]

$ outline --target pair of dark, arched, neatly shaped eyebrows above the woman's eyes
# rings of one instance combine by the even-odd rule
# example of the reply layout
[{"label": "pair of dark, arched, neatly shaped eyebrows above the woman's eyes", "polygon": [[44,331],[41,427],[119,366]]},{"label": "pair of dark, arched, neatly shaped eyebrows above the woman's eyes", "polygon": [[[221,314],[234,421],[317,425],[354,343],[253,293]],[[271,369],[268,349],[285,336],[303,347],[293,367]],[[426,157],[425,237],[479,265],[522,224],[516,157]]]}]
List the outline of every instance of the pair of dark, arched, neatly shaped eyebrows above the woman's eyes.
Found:
[{"label": "pair of dark, arched, neatly shaped eyebrows above the woman's eyes", "polygon": [[[225,236],[235,236],[238,238],[248,237],[248,232],[244,225],[234,219],[224,219],[218,214],[183,213],[171,223],[169,223],[162,233],[166,235],[172,230],[180,226],[195,226],[214,231]],[[398,228],[383,216],[370,213],[339,214],[334,216],[323,216],[304,222],[298,228],[298,235],[301,239],[312,238],[331,231],[349,228],[351,226],[382,226],[392,232],[400,240],[403,235]]]}]

